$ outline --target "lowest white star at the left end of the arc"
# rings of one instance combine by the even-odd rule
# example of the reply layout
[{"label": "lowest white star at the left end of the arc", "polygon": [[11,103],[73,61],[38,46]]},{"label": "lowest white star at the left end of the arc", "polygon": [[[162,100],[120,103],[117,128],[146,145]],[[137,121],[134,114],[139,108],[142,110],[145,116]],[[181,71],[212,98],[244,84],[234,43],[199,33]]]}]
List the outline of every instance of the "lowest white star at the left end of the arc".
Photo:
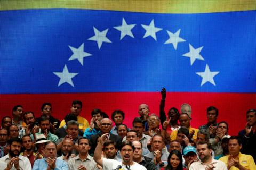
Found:
[{"label": "lowest white star at the left end of the arc", "polygon": [[53,72],[53,74],[57,75],[57,76],[60,78],[58,87],[59,87],[61,84],[65,83],[65,82],[69,83],[71,86],[74,87],[72,78],[75,77],[78,73],[69,73],[69,72],[68,72],[68,67],[67,67],[67,65],[65,64],[64,69],[63,69],[62,72]]}]

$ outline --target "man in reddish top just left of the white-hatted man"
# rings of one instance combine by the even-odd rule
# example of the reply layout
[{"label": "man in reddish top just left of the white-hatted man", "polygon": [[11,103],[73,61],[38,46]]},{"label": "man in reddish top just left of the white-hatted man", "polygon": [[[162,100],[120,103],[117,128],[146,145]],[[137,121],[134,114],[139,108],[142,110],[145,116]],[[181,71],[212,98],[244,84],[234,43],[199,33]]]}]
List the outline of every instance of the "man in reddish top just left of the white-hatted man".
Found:
[{"label": "man in reddish top just left of the white-hatted man", "polygon": [[33,152],[34,143],[31,140],[29,135],[25,135],[22,137],[22,147],[25,149],[24,152],[20,153],[20,155],[25,156],[29,159],[31,167],[33,167],[36,159],[41,159],[43,156],[39,154],[39,152]]}]

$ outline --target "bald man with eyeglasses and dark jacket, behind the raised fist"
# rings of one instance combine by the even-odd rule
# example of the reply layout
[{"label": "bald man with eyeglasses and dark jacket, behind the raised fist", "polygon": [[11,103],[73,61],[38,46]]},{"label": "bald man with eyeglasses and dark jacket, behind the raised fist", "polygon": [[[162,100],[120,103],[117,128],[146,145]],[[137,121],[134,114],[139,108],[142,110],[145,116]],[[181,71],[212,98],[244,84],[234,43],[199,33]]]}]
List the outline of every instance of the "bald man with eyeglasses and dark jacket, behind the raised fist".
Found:
[{"label": "bald man with eyeglasses and dark jacket, behind the raised fist", "polygon": [[114,141],[116,142],[116,145],[117,145],[117,148],[120,149],[120,146],[121,146],[121,142],[122,142],[122,138],[119,137],[118,135],[115,135],[115,134],[112,134],[110,133],[112,129],[112,121],[109,119],[109,118],[103,118],[101,121],[100,121],[100,132],[95,134],[95,135],[92,135],[89,143],[90,143],[90,146],[91,146],[91,149],[90,149],[90,154],[93,155],[94,153],[94,150],[97,146],[97,140],[98,138],[102,135],[102,134],[106,134],[106,133],[109,133],[109,139],[111,141]]}]

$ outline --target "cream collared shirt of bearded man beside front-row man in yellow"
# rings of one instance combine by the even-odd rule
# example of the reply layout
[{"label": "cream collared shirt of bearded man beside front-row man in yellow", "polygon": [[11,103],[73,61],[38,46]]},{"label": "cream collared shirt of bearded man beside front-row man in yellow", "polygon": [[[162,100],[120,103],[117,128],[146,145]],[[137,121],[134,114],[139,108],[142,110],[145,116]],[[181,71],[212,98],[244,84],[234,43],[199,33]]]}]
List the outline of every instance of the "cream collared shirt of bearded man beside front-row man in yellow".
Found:
[{"label": "cream collared shirt of bearded man beside front-row man in yellow", "polygon": [[[212,159],[212,162],[210,164],[213,164],[213,166],[215,166],[214,169],[218,169],[218,170],[227,170],[228,169],[227,166],[220,160]],[[206,164],[202,163],[199,160],[198,162],[194,162],[193,164],[191,164],[189,167],[189,170],[201,170],[201,169],[205,169],[206,166],[207,166]]]}]

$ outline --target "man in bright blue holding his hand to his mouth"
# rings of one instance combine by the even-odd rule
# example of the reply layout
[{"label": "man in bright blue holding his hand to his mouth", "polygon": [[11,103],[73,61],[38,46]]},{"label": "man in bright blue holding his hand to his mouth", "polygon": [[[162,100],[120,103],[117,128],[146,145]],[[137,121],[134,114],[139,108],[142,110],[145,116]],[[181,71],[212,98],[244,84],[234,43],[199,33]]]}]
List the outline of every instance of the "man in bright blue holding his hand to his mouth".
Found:
[{"label": "man in bright blue holding his hand to his mouth", "polygon": [[91,112],[92,119],[90,122],[90,127],[86,128],[84,131],[84,137],[91,139],[92,135],[95,135],[100,132],[100,121],[102,120],[102,111],[98,108],[95,108]]}]

